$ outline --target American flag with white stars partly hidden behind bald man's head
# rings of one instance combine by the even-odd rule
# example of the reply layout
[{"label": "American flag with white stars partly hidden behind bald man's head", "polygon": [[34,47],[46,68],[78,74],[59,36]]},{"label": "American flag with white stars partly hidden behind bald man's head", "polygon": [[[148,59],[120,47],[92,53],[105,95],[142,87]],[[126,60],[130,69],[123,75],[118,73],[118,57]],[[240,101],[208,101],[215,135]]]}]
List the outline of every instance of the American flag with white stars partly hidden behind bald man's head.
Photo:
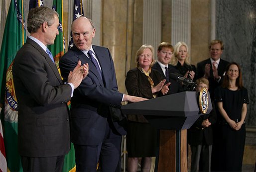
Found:
[{"label": "American flag with white stars partly hidden behind bald man's head", "polygon": [[[74,0],[74,11],[73,11],[73,21],[77,19],[80,16],[84,16],[84,7],[82,0]],[[73,47],[73,38],[72,38],[72,32],[70,32],[70,41],[68,45],[68,49]]]}]

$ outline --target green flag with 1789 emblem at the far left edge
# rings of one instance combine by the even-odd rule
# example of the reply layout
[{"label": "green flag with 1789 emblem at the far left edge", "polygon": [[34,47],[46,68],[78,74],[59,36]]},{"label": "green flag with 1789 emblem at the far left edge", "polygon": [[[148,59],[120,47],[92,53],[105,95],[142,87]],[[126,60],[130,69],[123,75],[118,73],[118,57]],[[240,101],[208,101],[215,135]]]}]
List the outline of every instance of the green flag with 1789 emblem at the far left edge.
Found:
[{"label": "green flag with 1789 emblem at the far left edge", "polygon": [[12,62],[25,42],[25,22],[23,20],[23,1],[11,0],[6,18],[0,52],[0,102],[4,115],[4,144],[9,171],[22,171],[17,150],[17,99],[12,80]]}]

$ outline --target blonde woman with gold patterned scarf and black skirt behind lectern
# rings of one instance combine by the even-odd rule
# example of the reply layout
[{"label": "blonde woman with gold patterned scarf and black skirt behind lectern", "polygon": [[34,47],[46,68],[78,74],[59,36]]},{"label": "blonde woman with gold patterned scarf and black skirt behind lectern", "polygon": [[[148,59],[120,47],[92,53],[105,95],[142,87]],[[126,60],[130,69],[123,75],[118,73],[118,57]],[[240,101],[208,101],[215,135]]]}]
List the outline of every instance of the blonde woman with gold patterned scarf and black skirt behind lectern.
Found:
[{"label": "blonde woman with gold patterned scarf and black skirt behind lectern", "polygon": [[[159,91],[168,92],[170,83],[164,85],[161,74],[151,67],[154,64],[154,49],[142,45],[136,53],[136,68],[127,73],[126,89],[129,95],[155,98]],[[128,115],[127,131],[128,171],[136,172],[141,157],[141,171],[149,172],[151,157],[156,156],[156,129],[143,115]]]}]

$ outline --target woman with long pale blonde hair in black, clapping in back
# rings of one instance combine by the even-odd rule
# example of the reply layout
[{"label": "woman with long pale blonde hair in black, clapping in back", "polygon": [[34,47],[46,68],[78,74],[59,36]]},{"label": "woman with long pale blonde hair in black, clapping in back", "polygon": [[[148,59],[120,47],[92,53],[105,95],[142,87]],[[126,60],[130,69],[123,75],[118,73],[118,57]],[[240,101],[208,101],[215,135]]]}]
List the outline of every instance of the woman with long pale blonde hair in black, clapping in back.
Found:
[{"label": "woman with long pale blonde hair in black, clapping in back", "polygon": [[184,78],[194,80],[196,75],[195,65],[189,63],[188,46],[185,42],[178,42],[174,46],[175,68]]}]

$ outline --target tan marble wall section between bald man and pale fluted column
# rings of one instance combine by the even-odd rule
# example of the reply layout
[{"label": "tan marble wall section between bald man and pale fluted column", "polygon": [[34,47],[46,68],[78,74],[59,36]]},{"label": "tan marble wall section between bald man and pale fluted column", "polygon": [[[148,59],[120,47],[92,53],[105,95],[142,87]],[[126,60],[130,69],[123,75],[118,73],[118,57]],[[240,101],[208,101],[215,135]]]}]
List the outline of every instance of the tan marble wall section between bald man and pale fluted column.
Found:
[{"label": "tan marble wall section between bald man and pale fluted column", "polygon": [[126,92],[128,70],[135,67],[135,53],[142,45],[143,1],[103,0],[103,46],[112,53],[120,92]]}]

